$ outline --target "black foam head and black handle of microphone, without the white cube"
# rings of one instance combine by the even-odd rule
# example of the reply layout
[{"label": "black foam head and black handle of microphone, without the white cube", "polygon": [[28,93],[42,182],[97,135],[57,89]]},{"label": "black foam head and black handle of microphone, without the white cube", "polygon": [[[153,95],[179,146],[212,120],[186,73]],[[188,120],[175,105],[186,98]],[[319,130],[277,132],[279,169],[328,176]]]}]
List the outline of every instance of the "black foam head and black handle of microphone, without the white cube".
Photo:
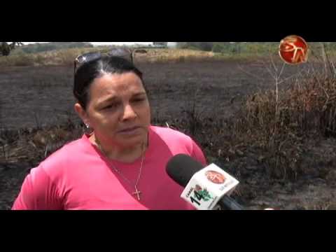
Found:
[{"label": "black foam head and black handle of microphone, without the white cube", "polygon": [[[180,186],[183,186],[183,188],[186,188],[194,174],[200,172],[202,169],[204,169],[204,166],[200,162],[184,154],[175,155],[169,160],[166,166],[166,172],[169,177]],[[241,207],[240,204],[228,195],[223,195],[217,202],[217,206],[223,210],[244,210],[244,207]],[[211,209],[214,208],[212,207]]]}]

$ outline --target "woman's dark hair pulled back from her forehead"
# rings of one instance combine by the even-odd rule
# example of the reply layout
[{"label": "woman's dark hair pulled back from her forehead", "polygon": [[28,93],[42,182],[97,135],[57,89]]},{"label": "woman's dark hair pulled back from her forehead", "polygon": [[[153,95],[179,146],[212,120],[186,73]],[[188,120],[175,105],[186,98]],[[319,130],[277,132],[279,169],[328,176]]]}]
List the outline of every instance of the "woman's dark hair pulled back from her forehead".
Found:
[{"label": "woman's dark hair pulled back from her forehead", "polygon": [[[142,73],[132,62],[122,57],[104,56],[99,59],[85,62],[75,73],[73,83],[73,95],[76,97],[83,109],[87,108],[90,101],[89,90],[94,79],[99,78],[104,73],[135,73],[146,90]],[[147,92],[147,90],[146,90]]]}]

